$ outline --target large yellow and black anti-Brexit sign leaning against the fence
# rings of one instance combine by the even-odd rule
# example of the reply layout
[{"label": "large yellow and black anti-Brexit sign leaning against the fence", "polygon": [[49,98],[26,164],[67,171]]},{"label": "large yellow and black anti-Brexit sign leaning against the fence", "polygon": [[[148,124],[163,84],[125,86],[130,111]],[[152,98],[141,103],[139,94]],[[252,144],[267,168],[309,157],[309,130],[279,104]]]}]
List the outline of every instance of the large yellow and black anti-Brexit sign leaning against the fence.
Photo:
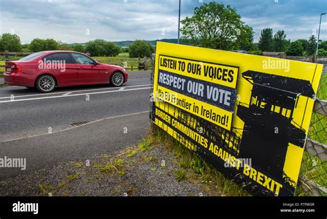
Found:
[{"label": "large yellow and black anti-Brexit sign leaning against the fence", "polygon": [[293,196],[322,68],[158,42],[150,117],[255,196]]}]

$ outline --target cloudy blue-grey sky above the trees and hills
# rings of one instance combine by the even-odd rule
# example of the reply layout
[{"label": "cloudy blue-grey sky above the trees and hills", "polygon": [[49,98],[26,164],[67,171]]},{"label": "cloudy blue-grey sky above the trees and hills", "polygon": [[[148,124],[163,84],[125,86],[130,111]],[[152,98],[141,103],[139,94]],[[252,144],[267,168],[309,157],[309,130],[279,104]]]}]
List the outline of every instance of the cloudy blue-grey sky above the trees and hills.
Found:
[{"label": "cloudy blue-grey sky above the trees and hills", "polygon": [[[209,0],[181,0],[181,17]],[[255,30],[285,30],[287,38],[308,39],[319,28],[326,0],[221,0],[230,4]],[[0,34],[19,35],[23,44],[34,38],[66,43],[177,38],[178,0],[0,0]],[[327,40],[327,15],[320,39]]]}]

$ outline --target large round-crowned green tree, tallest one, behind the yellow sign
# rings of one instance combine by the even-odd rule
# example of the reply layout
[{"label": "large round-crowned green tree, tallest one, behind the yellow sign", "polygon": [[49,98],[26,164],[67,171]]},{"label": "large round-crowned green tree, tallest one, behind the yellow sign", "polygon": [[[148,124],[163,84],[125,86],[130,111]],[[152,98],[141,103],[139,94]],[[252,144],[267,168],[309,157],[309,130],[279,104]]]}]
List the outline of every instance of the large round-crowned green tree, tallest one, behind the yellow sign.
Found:
[{"label": "large round-crowned green tree, tallest one, behind the yellow sign", "polygon": [[250,45],[253,30],[241,21],[235,8],[211,1],[195,8],[181,21],[183,41],[194,46],[232,50]]}]

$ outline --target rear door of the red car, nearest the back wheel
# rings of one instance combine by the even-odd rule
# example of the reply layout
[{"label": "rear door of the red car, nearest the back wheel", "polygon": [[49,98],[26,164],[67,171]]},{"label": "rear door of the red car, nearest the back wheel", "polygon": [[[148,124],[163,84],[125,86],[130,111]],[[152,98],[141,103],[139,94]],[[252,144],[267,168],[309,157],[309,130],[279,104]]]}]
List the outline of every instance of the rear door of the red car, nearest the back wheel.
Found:
[{"label": "rear door of the red car, nearest the back wheel", "polygon": [[43,63],[50,66],[59,86],[79,84],[79,68],[70,53],[52,53],[43,57]]}]

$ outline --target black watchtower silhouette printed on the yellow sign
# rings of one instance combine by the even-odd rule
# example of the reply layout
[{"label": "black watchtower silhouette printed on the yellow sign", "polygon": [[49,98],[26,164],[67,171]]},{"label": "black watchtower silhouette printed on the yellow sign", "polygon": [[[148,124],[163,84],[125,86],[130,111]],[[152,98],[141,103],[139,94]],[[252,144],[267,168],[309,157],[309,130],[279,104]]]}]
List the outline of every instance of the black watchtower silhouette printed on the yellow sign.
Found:
[{"label": "black watchtower silhouette printed on the yellow sign", "polygon": [[248,70],[242,77],[250,82],[250,104],[240,103],[237,116],[243,120],[239,157],[252,158],[252,165],[278,178],[285,177],[288,144],[304,146],[306,131],[293,120],[299,96],[313,98],[309,81]]}]

